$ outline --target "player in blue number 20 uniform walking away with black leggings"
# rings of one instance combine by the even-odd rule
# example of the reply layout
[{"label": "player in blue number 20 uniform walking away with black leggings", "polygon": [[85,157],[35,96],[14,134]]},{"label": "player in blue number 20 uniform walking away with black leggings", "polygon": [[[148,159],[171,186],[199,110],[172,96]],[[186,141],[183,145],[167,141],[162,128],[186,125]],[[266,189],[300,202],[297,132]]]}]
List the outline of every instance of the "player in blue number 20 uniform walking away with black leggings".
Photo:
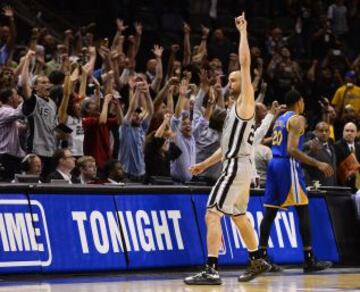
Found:
[{"label": "player in blue number 20 uniform walking away with black leggings", "polygon": [[329,262],[316,262],[311,247],[309,200],[305,179],[300,163],[318,168],[326,176],[333,174],[327,163],[320,162],[301,151],[305,119],[304,101],[296,90],[285,96],[288,111],[275,122],[272,134],[273,159],[267,171],[264,206],[266,212],[260,225],[260,253],[267,260],[267,245],[270,229],[279,208],[295,206],[300,221],[300,234],[304,246],[304,272],[323,270],[330,267]]}]

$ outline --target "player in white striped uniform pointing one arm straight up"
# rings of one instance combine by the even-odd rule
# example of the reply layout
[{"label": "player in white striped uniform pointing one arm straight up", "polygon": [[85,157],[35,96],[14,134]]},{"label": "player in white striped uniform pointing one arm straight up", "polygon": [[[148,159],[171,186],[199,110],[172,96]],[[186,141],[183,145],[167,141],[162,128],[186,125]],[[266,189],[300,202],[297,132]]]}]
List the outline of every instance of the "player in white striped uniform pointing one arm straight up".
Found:
[{"label": "player in white striped uniform pointing one arm straight up", "polygon": [[218,273],[218,253],[221,244],[221,217],[232,217],[245,241],[250,256],[247,272],[240,275],[239,281],[249,281],[270,265],[260,258],[255,231],[246,216],[249,201],[252,165],[250,154],[254,136],[255,100],[250,77],[250,51],[247,39],[247,22],[244,13],[235,19],[240,32],[239,60],[241,71],[229,76],[229,90],[235,99],[226,118],[220,148],[208,159],[190,167],[193,175],[223,160],[223,171],[213,187],[206,212],[208,258],[204,270],[185,278],[189,285],[220,285]]}]

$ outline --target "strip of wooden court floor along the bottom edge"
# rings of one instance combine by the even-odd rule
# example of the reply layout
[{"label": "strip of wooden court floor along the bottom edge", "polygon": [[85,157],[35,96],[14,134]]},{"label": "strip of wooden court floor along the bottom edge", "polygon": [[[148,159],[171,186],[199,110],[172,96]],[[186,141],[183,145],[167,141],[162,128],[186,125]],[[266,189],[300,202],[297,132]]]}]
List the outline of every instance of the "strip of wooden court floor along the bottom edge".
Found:
[{"label": "strip of wooden court floor along the bottom edge", "polygon": [[104,275],[0,276],[0,292],[261,292],[261,291],[360,291],[360,268],[330,269],[304,275],[300,269],[267,274],[239,283],[239,271],[222,271],[221,286],[187,286],[182,279],[191,272],[131,273]]}]

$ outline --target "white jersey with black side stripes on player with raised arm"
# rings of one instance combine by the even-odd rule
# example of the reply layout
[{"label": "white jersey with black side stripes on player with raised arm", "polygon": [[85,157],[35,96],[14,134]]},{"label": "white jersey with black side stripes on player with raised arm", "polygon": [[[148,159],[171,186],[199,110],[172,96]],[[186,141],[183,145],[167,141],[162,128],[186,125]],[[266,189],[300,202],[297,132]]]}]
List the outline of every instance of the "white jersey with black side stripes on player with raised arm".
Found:
[{"label": "white jersey with black side stripes on player with raised arm", "polygon": [[236,113],[235,103],[230,108],[222,132],[221,149],[223,160],[250,156],[255,131],[255,118],[241,119]]}]

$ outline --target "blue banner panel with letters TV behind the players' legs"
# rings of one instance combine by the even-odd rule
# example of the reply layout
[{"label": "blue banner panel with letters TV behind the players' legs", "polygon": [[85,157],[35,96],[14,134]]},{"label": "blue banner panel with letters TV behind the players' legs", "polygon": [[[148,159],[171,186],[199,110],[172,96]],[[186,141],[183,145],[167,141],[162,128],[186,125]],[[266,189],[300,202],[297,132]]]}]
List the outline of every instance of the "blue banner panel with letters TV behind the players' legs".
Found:
[{"label": "blue banner panel with letters TV behind the players' legs", "polygon": [[[206,254],[205,212],[207,194],[194,195],[196,216],[200,226],[201,240]],[[262,197],[250,197],[247,216],[252,222],[256,235],[260,235],[260,223],[264,216]],[[339,260],[336,242],[331,228],[329,213],[323,198],[310,199],[313,242],[315,255],[319,259]],[[279,210],[269,239],[269,256],[276,263],[302,263],[303,246],[299,232],[299,220],[294,208]],[[246,264],[248,253],[245,243],[229,216],[222,219],[222,246],[219,263],[224,265]]]}]

